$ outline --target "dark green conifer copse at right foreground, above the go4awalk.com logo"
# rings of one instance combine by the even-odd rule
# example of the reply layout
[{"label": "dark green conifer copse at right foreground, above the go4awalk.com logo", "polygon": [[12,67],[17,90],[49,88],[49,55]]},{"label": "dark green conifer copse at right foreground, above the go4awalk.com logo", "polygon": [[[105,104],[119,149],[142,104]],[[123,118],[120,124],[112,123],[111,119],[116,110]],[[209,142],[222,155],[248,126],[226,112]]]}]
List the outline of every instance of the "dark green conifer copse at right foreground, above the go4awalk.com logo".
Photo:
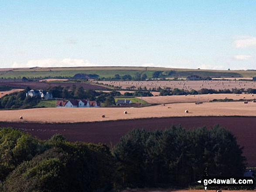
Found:
[{"label": "dark green conifer copse at right foreground, above the go4awalk.com logo", "polygon": [[209,175],[242,175],[245,157],[236,138],[225,128],[164,131],[133,130],[114,149],[127,186],[195,184],[205,168]]}]

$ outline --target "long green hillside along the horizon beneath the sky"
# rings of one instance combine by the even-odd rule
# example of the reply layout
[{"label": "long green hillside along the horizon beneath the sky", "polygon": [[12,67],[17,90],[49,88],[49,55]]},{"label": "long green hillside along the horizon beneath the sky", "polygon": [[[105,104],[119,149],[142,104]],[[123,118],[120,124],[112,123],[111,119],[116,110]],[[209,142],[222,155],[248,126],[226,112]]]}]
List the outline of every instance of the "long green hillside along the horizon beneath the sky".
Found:
[{"label": "long green hillside along the horizon beneath the sky", "polygon": [[[114,77],[130,74],[132,77],[136,73],[147,74],[152,77],[155,71],[174,71],[169,77],[188,77],[189,75],[199,75],[201,77],[255,77],[254,70],[220,71],[202,69],[176,69],[164,67],[36,67],[36,68],[16,68],[0,71],[0,78],[22,78],[22,77],[73,77],[78,73],[97,74],[102,77]],[[165,73],[165,72],[164,72]]]}]

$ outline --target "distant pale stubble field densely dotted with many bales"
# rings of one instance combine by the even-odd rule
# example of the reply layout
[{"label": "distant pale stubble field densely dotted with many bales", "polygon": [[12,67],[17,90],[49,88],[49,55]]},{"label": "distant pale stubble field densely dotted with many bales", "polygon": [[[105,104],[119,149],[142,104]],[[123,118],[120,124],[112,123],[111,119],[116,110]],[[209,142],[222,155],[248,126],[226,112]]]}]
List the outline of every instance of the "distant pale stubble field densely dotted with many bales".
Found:
[{"label": "distant pale stubble field densely dotted with many bales", "polygon": [[135,86],[149,88],[179,88],[184,90],[200,90],[202,88],[224,90],[232,88],[256,88],[255,81],[97,81],[103,84],[109,84],[122,87],[123,89]]}]

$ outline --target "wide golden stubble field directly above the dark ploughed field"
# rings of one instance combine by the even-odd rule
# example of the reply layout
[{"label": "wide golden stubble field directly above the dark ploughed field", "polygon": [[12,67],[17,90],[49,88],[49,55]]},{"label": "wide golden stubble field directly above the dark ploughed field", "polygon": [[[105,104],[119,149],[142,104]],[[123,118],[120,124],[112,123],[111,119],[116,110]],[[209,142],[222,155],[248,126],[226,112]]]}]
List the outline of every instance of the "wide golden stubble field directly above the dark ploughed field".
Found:
[{"label": "wide golden stubble field directly above the dark ploughed field", "polygon": [[[188,113],[185,113],[188,110]],[[124,114],[127,111],[128,114]],[[106,118],[102,118],[105,115]],[[23,119],[20,119],[20,116]],[[136,118],[190,116],[254,116],[256,103],[174,103],[144,108],[34,108],[23,110],[0,110],[0,121],[34,122],[89,122]]]}]

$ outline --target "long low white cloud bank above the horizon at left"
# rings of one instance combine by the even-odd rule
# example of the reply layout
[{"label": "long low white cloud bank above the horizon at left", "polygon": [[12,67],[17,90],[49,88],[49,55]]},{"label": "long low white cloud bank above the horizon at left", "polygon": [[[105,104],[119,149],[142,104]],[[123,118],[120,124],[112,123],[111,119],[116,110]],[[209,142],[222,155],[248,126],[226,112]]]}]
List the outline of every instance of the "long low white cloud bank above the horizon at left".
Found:
[{"label": "long low white cloud bank above the horizon at left", "polygon": [[42,60],[30,60],[25,64],[14,63],[13,68],[19,67],[93,67],[97,66],[89,61],[83,59],[70,59],[66,58],[63,60],[57,59],[42,59]]}]

